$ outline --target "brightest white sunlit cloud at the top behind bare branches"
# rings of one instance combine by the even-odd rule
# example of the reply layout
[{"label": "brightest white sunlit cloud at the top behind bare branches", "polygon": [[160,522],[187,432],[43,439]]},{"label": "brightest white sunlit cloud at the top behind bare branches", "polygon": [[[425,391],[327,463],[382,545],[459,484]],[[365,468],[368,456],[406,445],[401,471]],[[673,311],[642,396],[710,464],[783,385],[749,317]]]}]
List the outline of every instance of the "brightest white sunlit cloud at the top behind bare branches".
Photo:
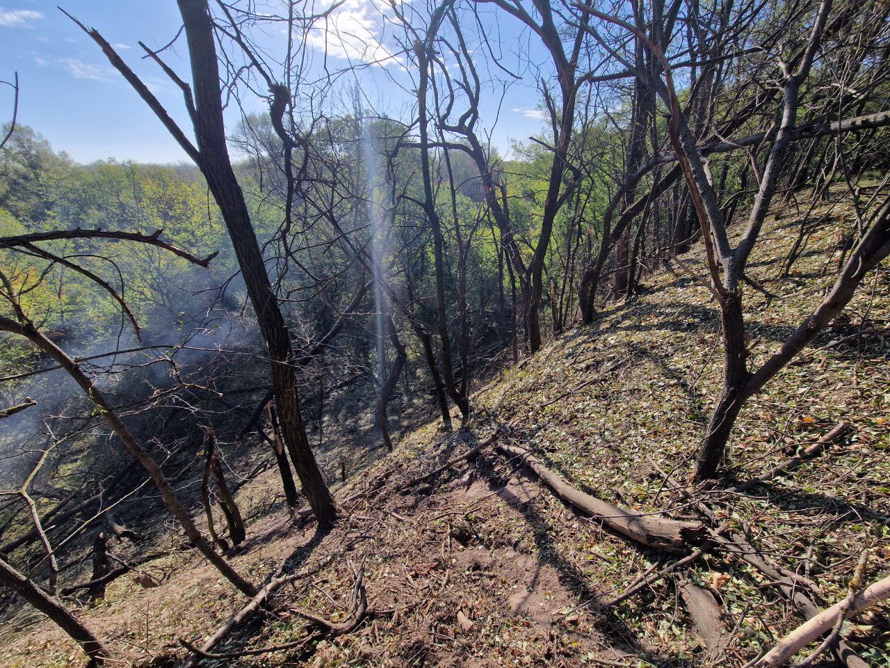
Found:
[{"label": "brightest white sunlit cloud at the top behind bare branches", "polygon": [[345,0],[327,20],[320,20],[306,42],[329,56],[388,65],[400,61],[381,43],[384,19],[374,0]]}]

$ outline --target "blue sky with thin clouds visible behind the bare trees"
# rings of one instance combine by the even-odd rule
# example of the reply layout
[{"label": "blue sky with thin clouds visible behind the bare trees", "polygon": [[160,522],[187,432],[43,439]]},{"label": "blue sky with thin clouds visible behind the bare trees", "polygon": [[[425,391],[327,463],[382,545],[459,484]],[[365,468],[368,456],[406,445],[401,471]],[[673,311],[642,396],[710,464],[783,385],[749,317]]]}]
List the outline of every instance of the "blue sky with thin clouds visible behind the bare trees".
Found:
[{"label": "blue sky with thin clouds visible behind the bare trees", "polygon": [[[326,43],[328,64],[334,67],[391,53],[388,50],[392,46],[376,43],[378,37],[386,44],[389,35],[372,1],[347,0],[328,23],[327,31],[312,33],[308,41],[316,66]],[[142,60],[137,44],[142,40],[158,47],[174,37],[181,25],[174,0],[0,0],[0,79],[12,80],[13,72],[18,71],[20,122],[44,134],[56,151],[66,151],[79,162],[109,158],[185,160],[142,100],[110,68],[93,41],[56,9],[56,4],[87,26],[99,29],[184,125],[179,90],[157,66]],[[514,20],[483,20],[490,20],[489,28],[499,31],[498,41],[506,50],[534,60],[534,46],[523,39],[518,25],[511,25]],[[277,37],[281,36],[270,35],[267,46],[271,53],[279,43],[284,44]],[[166,53],[169,64],[183,75],[187,74],[184,56],[184,39],[182,46]],[[512,58],[507,55],[508,60]],[[397,118],[403,116],[409,97],[401,86],[409,84],[398,61],[362,69],[356,77],[377,110],[389,111]],[[498,86],[499,78],[507,78],[496,70],[490,77],[493,86]],[[511,140],[525,140],[540,130],[538,97],[533,77],[508,88],[492,137],[502,154]],[[483,119],[494,118],[499,98],[493,89],[485,95]],[[0,103],[0,118],[8,119],[12,104],[8,86],[0,91]],[[253,97],[246,106],[250,111],[263,109],[262,102]],[[237,118],[234,112],[230,114],[230,131]]]}]

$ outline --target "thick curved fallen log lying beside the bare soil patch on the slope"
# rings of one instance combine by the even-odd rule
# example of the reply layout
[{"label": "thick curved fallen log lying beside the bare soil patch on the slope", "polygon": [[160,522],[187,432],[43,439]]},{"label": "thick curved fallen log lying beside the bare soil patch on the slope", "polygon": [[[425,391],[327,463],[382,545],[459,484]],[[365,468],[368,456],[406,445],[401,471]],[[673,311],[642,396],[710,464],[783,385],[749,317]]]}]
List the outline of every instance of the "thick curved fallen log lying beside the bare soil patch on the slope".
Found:
[{"label": "thick curved fallen log lying beside the bare soil patch on the slope", "polygon": [[602,520],[612,531],[646,547],[684,554],[698,546],[705,538],[707,530],[700,522],[654,517],[621,509],[571,486],[565,478],[546,468],[528,450],[518,445],[497,444],[495,449],[522,460],[522,463],[530,468],[542,483],[573,509]]}]

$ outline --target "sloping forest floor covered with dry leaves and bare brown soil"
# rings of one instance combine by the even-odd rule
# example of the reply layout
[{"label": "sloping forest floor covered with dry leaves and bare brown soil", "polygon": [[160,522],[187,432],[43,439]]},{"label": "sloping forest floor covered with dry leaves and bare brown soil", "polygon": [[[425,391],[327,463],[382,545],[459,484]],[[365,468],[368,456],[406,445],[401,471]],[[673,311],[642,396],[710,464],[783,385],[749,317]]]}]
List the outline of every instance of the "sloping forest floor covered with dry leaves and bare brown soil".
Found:
[{"label": "sloping forest floor covered with dry leaves and bare brown soil", "polygon": [[[847,201],[817,206],[801,256],[780,279],[804,212],[793,203],[784,208],[755,250],[749,274],[777,298],[767,305],[763,294],[746,292],[752,364],[821,301],[837,269],[841,232],[855,222]],[[703,266],[701,249],[684,262]],[[498,439],[530,449],[604,501],[698,517],[686,480],[719,391],[718,327],[708,290],[683,273],[644,278],[639,297],[610,305],[595,325],[570,330],[476,392],[478,410],[467,429],[444,435],[427,424],[352,473],[336,490],[344,519],[327,534],[283,509],[259,511],[278,493],[271,472],[244,485],[239,501],[248,519],[259,518],[250,521],[246,549],[233,565],[255,582],[282,564],[305,576],[276,593],[271,612],[213,651],[305,642],[201,664],[740,666],[772,647],[803,620],[768,578],[725,550],[601,608],[667,557],[572,512],[494,448],[401,489],[499,427]],[[866,582],[890,572],[888,337],[885,267],[742,411],[729,482],[695,492],[719,522],[812,582],[820,607],[844,598],[863,549],[870,550]],[[745,493],[721,491],[763,474],[842,420],[850,426],[845,436],[788,477]],[[352,632],[319,639],[299,613],[348,618],[360,570],[370,614]],[[163,582],[147,586],[153,582],[146,575]],[[703,648],[684,606],[687,581],[710,591],[722,608],[725,635],[714,651]],[[104,600],[78,614],[121,665],[159,667],[187,656],[179,639],[199,645],[244,604],[214,570],[180,552],[118,579]],[[846,638],[872,666],[890,665],[886,612],[845,623]],[[0,650],[2,666],[69,664],[83,664],[82,655],[45,622]],[[829,664],[828,656],[821,665]]]}]

